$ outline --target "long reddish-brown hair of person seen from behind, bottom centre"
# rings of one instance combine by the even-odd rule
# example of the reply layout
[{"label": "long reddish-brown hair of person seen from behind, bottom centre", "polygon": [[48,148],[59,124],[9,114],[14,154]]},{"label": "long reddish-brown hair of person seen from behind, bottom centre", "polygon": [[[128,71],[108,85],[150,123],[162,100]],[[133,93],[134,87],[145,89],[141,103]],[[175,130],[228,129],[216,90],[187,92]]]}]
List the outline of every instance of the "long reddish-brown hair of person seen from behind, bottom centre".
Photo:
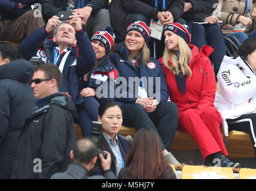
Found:
[{"label": "long reddish-brown hair of person seen from behind, bottom centre", "polygon": [[150,129],[137,131],[124,164],[118,179],[176,179],[161,152],[159,137]]}]

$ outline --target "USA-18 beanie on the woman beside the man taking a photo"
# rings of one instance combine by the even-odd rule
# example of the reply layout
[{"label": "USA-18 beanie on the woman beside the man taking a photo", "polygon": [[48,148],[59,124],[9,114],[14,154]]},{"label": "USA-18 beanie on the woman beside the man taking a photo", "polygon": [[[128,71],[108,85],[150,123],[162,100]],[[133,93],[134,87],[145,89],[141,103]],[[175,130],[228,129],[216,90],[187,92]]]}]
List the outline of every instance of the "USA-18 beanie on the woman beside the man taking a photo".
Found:
[{"label": "USA-18 beanie on the woman beside the man taking a photo", "polygon": [[111,26],[108,26],[105,30],[98,30],[92,36],[91,42],[92,41],[101,42],[106,49],[106,55],[108,55],[115,41],[114,29]]}]

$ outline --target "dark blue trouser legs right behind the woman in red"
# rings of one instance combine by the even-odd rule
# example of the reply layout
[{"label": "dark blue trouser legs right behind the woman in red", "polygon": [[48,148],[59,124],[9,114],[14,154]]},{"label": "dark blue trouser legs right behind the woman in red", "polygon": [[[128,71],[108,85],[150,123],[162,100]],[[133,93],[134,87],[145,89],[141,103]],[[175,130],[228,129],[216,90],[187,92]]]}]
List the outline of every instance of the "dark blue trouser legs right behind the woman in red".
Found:
[{"label": "dark blue trouser legs right behind the woman in red", "polygon": [[199,50],[206,44],[214,48],[209,58],[214,64],[215,73],[218,73],[226,54],[225,42],[220,27],[217,24],[197,24],[188,21],[187,23],[192,26],[191,44],[196,45]]}]

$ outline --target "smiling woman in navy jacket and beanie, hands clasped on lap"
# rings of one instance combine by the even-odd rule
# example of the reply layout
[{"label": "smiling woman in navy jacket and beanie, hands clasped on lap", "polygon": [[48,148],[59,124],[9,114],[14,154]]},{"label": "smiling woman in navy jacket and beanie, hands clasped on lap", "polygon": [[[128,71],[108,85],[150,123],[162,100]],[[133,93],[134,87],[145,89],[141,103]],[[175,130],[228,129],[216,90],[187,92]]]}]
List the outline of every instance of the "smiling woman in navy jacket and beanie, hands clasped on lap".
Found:
[{"label": "smiling woman in navy jacket and beanie, hands clasped on lap", "polygon": [[167,101],[168,91],[159,60],[150,57],[150,29],[142,21],[127,27],[126,39],[109,54],[120,77],[115,100],[123,109],[123,125],[154,130],[161,140],[164,156],[179,164],[169,150],[178,124],[176,104]]}]

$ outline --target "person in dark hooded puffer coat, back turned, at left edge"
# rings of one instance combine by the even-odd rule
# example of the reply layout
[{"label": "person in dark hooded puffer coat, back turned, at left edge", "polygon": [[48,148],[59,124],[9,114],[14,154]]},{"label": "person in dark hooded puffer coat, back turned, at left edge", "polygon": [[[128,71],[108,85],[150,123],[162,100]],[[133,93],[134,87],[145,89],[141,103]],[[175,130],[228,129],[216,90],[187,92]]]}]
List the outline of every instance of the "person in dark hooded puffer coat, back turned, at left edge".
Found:
[{"label": "person in dark hooded puffer coat, back turned, at left edge", "polygon": [[17,58],[14,45],[0,42],[0,178],[11,178],[20,132],[35,110],[33,65]]}]

